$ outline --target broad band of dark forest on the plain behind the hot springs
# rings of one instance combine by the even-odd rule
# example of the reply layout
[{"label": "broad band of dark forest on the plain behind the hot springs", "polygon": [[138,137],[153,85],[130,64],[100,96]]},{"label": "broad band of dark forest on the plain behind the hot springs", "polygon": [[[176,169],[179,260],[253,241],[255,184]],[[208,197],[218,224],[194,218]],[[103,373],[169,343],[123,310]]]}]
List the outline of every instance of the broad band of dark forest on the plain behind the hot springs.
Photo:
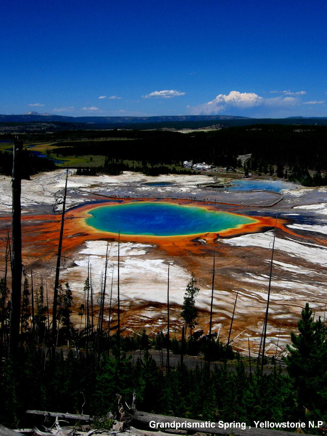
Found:
[{"label": "broad band of dark forest on the plain behind the hot springs", "polygon": [[140,160],[144,165],[205,161],[229,168],[239,166],[238,155],[251,153],[244,167],[246,173],[277,175],[306,186],[327,184],[324,126],[256,125],[189,134],[119,130],[111,131],[110,136],[98,141],[95,136],[93,140],[59,141],[53,152],[57,156],[92,152],[111,161]]}]

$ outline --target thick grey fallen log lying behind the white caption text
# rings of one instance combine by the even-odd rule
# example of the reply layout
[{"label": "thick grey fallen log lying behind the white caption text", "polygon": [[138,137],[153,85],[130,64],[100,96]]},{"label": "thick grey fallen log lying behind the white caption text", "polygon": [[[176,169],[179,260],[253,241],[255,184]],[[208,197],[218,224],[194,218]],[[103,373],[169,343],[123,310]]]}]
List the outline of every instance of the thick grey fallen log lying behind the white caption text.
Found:
[{"label": "thick grey fallen log lying behind the white caption text", "polygon": [[[270,428],[256,428],[254,423],[250,428],[249,425],[246,425],[246,428],[244,428],[245,423],[235,421],[199,421],[197,419],[178,418],[176,416],[155,415],[137,410],[129,410],[128,414],[131,418],[131,423],[136,427],[138,424],[142,427],[150,427],[152,430],[157,429],[166,432],[169,432],[171,428],[174,428],[175,430],[186,429],[196,433],[200,432],[226,436],[229,436],[231,433],[234,436],[294,436],[295,434],[291,431],[276,431]],[[228,425],[228,427],[224,428],[224,424]]]}]

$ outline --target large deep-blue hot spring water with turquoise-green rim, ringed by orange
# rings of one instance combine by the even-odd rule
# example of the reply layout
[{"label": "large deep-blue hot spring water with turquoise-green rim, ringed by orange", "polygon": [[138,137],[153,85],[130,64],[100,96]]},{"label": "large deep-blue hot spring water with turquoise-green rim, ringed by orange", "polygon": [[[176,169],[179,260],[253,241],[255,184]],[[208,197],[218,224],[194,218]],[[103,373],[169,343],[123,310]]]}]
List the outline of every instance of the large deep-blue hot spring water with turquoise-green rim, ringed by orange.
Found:
[{"label": "large deep-blue hot spring water with turquoise-green rim, ringed by orange", "polygon": [[171,203],[126,203],[91,209],[87,224],[98,230],[128,234],[176,236],[218,233],[241,224],[254,223],[247,216],[208,211],[202,207]]}]

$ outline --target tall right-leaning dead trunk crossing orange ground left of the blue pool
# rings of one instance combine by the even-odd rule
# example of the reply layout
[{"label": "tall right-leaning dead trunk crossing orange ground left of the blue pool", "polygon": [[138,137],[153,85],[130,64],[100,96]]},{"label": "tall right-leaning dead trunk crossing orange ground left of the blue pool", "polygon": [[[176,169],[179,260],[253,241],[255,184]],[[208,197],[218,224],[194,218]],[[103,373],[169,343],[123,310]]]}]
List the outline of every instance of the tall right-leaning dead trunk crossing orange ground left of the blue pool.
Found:
[{"label": "tall right-leaning dead trunk crossing orange ground left of the blue pool", "polygon": [[53,288],[52,332],[51,332],[51,357],[52,357],[53,362],[55,361],[55,356],[56,356],[56,340],[57,340],[56,316],[57,316],[57,304],[58,304],[58,286],[59,286],[59,272],[60,272],[60,261],[61,261],[63,226],[64,226],[64,221],[65,221],[67,180],[68,180],[68,168],[67,168],[67,172],[66,172],[65,190],[64,190],[63,202],[62,202],[62,213],[61,213],[61,225],[60,225],[60,233],[59,233],[58,252],[57,252],[56,275],[55,275],[55,279],[54,279],[54,288]]}]

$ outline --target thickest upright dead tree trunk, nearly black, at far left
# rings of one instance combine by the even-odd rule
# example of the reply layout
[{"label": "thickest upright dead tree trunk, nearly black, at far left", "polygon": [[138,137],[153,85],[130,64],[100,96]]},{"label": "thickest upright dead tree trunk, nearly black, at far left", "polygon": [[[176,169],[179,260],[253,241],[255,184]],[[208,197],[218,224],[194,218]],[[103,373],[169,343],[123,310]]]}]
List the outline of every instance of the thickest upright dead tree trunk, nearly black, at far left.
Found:
[{"label": "thickest upright dead tree trunk, nearly black, at far left", "polygon": [[21,182],[23,141],[15,136],[13,152],[13,212],[12,212],[12,293],[10,312],[9,351],[18,352],[19,326],[22,296],[22,227],[21,227]]}]

